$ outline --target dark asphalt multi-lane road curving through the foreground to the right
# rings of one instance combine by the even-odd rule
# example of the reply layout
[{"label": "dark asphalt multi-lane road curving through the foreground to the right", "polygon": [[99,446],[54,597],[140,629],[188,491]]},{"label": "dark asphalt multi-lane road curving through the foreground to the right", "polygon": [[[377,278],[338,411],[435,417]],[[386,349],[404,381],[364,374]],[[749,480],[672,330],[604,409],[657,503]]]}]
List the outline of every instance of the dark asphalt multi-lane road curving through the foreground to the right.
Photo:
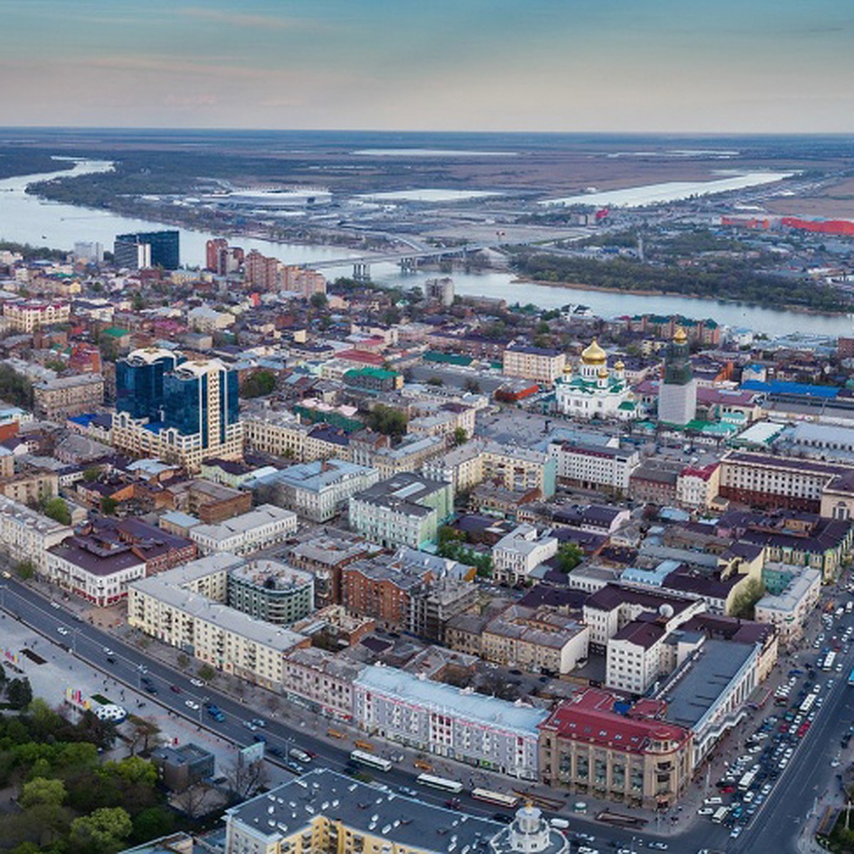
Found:
[{"label": "dark asphalt multi-lane road curving through the foreground to the right", "polygon": [[[154,704],[161,705],[237,746],[253,742],[254,733],[245,726],[245,722],[260,718],[265,722],[265,726],[258,732],[264,734],[268,747],[278,748],[284,755],[287,755],[292,747],[312,753],[313,766],[322,765],[342,770],[348,763],[350,747],[345,743],[336,746],[328,740],[318,738],[312,733],[312,728],[306,725],[305,718],[295,726],[290,725],[241,704],[236,699],[220,693],[215,687],[194,685],[190,681],[194,678],[192,674],[173,669],[149,657],[143,650],[117,640],[114,635],[109,635],[91,623],[80,621],[61,606],[51,605],[42,595],[15,579],[0,583],[0,609],[37,629],[48,640],[67,647],[71,654],[90,664],[93,670],[99,671],[105,678],[122,682],[141,693],[146,708]],[[845,623],[852,622],[851,617],[844,617],[843,621],[836,624],[834,631],[841,629]],[[811,653],[812,651],[810,657]],[[807,653],[801,653],[798,663],[803,663],[804,658],[807,658]],[[854,666],[854,645],[841,657],[841,661],[842,674],[821,675],[822,694],[825,698],[822,709],[816,715],[816,721],[808,734],[799,743],[792,762],[776,781],[768,800],[762,804],[762,808],[757,811],[752,823],[745,828],[739,839],[730,839],[727,828],[713,825],[706,820],[685,822],[681,819],[679,824],[687,824],[687,828],[681,833],[678,829],[671,829],[664,837],[656,837],[652,824],[646,833],[633,833],[605,827],[582,816],[571,818],[572,828],[593,834],[595,841],[588,842],[588,845],[600,850],[602,854],[608,848],[618,845],[627,849],[634,847],[636,851],[640,851],[646,848],[649,842],[662,838],[668,843],[670,851],[692,854],[704,848],[733,852],[797,851],[798,835],[807,823],[807,814],[812,810],[816,798],[828,790],[828,787],[838,786],[836,770],[830,763],[840,752],[839,741],[842,735],[851,722],[854,722],[854,688],[847,685],[847,675]],[[143,676],[154,685],[156,693],[147,693]],[[828,691],[826,685],[831,676],[834,677],[834,685]],[[190,708],[187,705],[188,700],[197,704],[199,709]],[[204,709],[204,704],[208,701],[219,706],[225,715],[224,721],[217,722],[208,716]],[[132,713],[144,714],[142,709],[135,706],[134,701],[129,701],[127,708]],[[377,780],[389,787],[418,788],[415,783],[418,771],[408,767],[408,763],[394,765],[388,773],[373,773]],[[471,769],[460,766],[459,778],[464,783],[470,781],[471,775]],[[493,787],[506,791],[511,787],[511,783],[512,781],[506,779],[503,787]],[[444,804],[449,797],[447,794],[422,788],[418,788],[418,796],[435,804]],[[564,814],[574,800],[575,798],[567,796],[567,806],[562,810]],[[465,794],[460,796],[460,806],[478,815],[490,815],[496,811]],[[664,825],[664,821],[662,824]],[[810,821],[810,828],[812,827],[813,822]]]}]

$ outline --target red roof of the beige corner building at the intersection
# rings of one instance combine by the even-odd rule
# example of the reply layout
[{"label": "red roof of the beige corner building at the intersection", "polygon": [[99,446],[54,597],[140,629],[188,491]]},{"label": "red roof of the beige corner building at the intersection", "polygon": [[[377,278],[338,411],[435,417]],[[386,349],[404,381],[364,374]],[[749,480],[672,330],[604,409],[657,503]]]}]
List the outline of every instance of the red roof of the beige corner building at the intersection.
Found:
[{"label": "red roof of the beige corner building at the intersection", "polygon": [[[613,711],[615,702],[617,699],[611,693],[588,688],[561,703],[541,724],[541,729],[553,730],[562,739],[610,746],[630,753],[649,751],[652,741],[684,744],[691,738],[686,728],[675,723],[654,717],[625,717],[618,714]],[[634,711],[640,711],[640,705]]]}]

